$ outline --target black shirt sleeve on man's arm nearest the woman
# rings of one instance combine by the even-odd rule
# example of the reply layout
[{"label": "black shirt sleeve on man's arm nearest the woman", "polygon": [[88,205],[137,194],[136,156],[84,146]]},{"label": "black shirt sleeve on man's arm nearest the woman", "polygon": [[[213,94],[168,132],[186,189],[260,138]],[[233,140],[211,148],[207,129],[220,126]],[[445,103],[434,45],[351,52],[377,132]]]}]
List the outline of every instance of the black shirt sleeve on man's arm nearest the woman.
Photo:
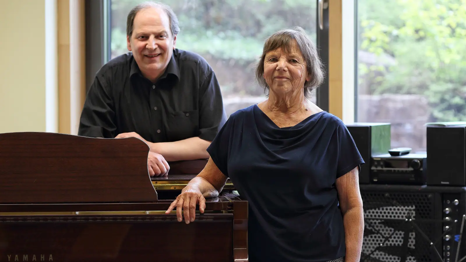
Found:
[{"label": "black shirt sleeve on man's arm nearest the woman", "polygon": [[199,138],[212,141],[226,122],[219,82],[212,70],[201,84],[199,94]]}]

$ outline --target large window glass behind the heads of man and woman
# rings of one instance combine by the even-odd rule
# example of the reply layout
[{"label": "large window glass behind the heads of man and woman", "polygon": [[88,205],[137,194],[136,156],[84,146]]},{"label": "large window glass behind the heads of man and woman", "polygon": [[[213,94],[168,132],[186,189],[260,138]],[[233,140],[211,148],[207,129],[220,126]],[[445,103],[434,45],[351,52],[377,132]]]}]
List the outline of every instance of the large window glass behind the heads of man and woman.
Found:
[{"label": "large window glass behind the heads of man and woman", "polygon": [[[110,1],[111,57],[126,49],[126,16],[141,0]],[[177,14],[176,47],[202,55],[220,83],[227,116],[262,101],[254,66],[264,39],[301,26],[316,41],[315,0],[162,0]],[[314,96],[315,102],[315,96]]]}]

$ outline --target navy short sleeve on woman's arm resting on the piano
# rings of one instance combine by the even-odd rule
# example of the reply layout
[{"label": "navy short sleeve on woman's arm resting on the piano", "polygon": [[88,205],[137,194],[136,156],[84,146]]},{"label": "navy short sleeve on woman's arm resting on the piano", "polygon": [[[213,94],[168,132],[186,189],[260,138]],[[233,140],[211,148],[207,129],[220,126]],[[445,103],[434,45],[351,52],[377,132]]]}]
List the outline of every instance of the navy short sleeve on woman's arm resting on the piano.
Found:
[{"label": "navy short sleeve on woman's arm resting on the piano", "polygon": [[212,140],[212,143],[207,147],[212,161],[217,165],[219,170],[228,176],[228,154],[231,148],[233,139],[234,116],[230,116],[226,123],[222,126],[217,136]]}]

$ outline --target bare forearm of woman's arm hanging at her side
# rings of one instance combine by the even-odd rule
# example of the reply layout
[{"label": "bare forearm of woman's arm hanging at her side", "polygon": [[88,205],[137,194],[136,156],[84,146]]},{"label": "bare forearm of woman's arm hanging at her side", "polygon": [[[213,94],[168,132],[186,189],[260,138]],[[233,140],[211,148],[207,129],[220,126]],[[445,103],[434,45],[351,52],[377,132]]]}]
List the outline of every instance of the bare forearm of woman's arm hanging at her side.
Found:
[{"label": "bare forearm of woman's arm hanging at her side", "polygon": [[353,207],[343,215],[345,228],[345,262],[359,262],[363,246],[364,213],[363,207]]}]

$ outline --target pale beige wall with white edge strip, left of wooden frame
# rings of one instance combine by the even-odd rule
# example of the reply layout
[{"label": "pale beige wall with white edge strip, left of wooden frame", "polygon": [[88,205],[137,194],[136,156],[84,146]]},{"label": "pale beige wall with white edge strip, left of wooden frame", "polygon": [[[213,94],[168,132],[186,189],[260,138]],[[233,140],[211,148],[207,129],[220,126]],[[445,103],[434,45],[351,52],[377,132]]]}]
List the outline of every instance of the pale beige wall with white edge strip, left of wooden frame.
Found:
[{"label": "pale beige wall with white edge strip, left of wooden frame", "polygon": [[57,131],[55,7],[0,0],[0,133]]}]

